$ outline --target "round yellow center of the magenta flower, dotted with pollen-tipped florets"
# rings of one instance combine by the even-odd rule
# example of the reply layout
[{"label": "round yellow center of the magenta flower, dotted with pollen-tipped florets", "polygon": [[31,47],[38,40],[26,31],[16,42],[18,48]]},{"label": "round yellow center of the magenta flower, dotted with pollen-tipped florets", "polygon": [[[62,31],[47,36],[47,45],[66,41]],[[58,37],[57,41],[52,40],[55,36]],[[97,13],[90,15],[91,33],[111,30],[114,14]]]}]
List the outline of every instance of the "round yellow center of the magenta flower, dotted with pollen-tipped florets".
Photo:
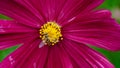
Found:
[{"label": "round yellow center of the magenta flower, dotted with pollen-tipped florets", "polygon": [[55,22],[47,22],[40,29],[40,38],[46,45],[55,45],[63,39],[61,27]]}]

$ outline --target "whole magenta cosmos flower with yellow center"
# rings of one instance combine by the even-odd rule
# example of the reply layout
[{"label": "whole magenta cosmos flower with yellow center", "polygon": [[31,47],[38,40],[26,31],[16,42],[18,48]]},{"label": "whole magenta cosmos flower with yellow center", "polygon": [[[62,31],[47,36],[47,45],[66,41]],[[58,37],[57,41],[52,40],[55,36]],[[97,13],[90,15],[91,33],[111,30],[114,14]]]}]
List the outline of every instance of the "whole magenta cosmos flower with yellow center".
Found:
[{"label": "whole magenta cosmos flower with yellow center", "polygon": [[114,68],[88,45],[120,50],[120,27],[103,0],[1,0],[0,49],[21,46],[0,68]]}]

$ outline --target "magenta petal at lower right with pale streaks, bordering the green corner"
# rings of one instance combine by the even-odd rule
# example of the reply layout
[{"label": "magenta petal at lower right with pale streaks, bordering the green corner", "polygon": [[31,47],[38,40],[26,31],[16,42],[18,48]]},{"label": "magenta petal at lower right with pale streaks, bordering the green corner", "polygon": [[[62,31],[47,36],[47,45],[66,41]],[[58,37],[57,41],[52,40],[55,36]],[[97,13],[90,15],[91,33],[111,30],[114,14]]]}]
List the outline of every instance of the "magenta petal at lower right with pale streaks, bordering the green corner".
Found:
[{"label": "magenta petal at lower right with pale streaks, bordering the green corner", "polygon": [[63,47],[73,62],[73,68],[114,68],[105,57],[88,46],[64,40]]}]

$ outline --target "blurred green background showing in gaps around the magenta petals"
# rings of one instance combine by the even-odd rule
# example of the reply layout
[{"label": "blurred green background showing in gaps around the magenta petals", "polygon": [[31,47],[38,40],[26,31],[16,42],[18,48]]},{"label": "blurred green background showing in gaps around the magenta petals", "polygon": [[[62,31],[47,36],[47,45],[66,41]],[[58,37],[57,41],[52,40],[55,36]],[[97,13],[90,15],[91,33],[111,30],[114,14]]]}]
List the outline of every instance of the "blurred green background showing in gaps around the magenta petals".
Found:
[{"label": "blurred green background showing in gaps around the magenta petals", "polygon": [[[120,23],[120,0],[105,0],[105,2],[98,7],[102,9],[108,9],[112,11],[112,16]],[[6,16],[0,15],[0,19],[9,19]],[[14,46],[12,48],[8,48],[5,50],[0,50],[0,61],[2,61],[8,54],[14,51],[17,47]],[[119,52],[111,52],[104,49],[93,47],[94,49],[101,52],[105,55],[110,62],[115,65],[115,68],[120,68],[120,51]]]}]

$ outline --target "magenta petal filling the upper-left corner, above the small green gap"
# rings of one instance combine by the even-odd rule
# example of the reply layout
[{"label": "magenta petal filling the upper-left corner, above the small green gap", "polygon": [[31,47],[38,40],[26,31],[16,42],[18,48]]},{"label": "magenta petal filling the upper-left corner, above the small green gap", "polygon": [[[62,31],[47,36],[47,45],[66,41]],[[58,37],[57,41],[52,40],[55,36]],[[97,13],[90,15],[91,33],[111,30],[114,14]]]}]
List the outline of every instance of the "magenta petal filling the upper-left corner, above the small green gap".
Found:
[{"label": "magenta petal filling the upper-left corner, above the small green gap", "polygon": [[23,5],[16,3],[14,0],[0,1],[0,6],[1,14],[9,16],[19,21],[19,23],[25,24],[27,26],[40,28],[40,24],[42,23],[41,20],[38,19],[38,17],[36,17],[27,8],[23,7]]}]

